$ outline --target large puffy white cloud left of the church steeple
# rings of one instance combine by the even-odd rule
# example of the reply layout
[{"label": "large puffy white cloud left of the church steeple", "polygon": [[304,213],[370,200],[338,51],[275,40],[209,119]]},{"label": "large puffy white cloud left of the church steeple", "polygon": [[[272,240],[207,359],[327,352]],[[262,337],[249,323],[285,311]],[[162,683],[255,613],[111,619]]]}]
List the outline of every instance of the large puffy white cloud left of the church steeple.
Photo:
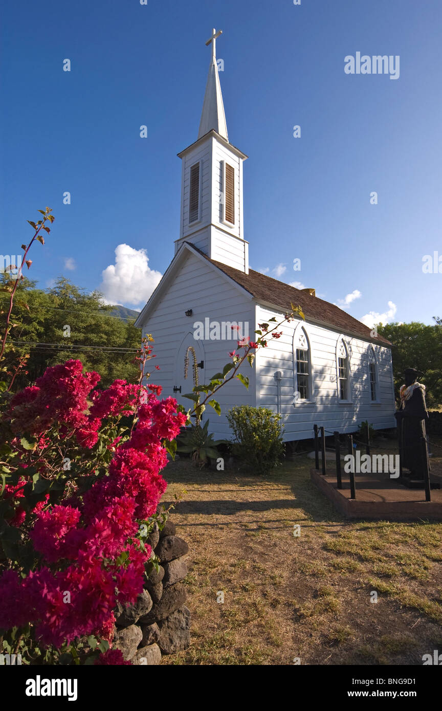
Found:
[{"label": "large puffy white cloud left of the church steeple", "polygon": [[100,291],[108,304],[144,306],[161,277],[161,272],[149,267],[146,250],[118,245],[115,264],[109,264],[102,272]]}]

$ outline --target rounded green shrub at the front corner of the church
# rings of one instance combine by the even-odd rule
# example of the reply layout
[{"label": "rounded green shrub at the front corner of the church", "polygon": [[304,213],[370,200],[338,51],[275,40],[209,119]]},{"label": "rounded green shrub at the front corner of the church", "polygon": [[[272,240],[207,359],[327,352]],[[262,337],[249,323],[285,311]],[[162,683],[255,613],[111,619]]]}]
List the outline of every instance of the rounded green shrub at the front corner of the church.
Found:
[{"label": "rounded green shrub at the front corner of the church", "polygon": [[281,415],[266,407],[239,405],[227,412],[235,440],[232,453],[255,474],[268,474],[281,464],[284,453]]}]

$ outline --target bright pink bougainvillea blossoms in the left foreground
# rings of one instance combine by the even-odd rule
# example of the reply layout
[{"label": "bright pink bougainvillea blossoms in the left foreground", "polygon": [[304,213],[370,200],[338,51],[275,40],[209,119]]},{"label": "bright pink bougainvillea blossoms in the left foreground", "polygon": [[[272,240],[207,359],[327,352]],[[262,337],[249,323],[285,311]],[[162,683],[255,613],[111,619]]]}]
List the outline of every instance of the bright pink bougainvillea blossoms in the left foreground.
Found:
[{"label": "bright pink bougainvillea blossoms in the left foreground", "polygon": [[[159,385],[115,380],[98,392],[93,390],[98,381],[97,373],[82,373],[79,360],[68,360],[47,368],[36,385],[14,395],[7,415],[20,466],[33,467],[28,479],[23,476],[4,489],[4,498],[14,503],[8,523],[23,525],[37,562],[24,577],[15,570],[0,575],[0,628],[33,624],[43,646],[60,647],[90,634],[111,643],[117,601],[131,604],[143,589],[151,547],[141,548],[136,537],[139,521],[155,513],[166,491],[163,442],[175,439],[186,422],[174,398],[158,400]],[[107,434],[113,428],[109,419],[122,414],[135,415],[136,422],[123,442],[121,435]],[[21,444],[23,432],[38,438],[33,449]],[[112,451],[109,465],[92,466],[96,460],[87,454],[83,459],[70,454],[69,447],[90,449],[99,439],[106,456]],[[85,491],[74,476],[57,503],[46,493],[35,506],[21,506],[23,486],[32,483],[36,469],[50,479],[46,468],[49,462],[53,472],[60,444],[83,465],[82,479],[90,476],[92,486]],[[113,650],[97,663],[126,662]]]}]

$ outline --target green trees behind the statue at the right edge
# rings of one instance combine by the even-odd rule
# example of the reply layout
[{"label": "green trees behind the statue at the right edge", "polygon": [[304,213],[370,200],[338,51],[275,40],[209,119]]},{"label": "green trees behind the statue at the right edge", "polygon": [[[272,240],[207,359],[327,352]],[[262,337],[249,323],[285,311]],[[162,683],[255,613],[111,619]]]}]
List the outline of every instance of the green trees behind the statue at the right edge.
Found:
[{"label": "green trees behind the statue at the right edge", "polygon": [[393,344],[394,388],[399,399],[399,387],[404,383],[405,368],[417,368],[424,373],[428,407],[442,403],[442,319],[433,316],[434,324],[427,326],[417,321],[411,324],[378,324],[380,336]]}]

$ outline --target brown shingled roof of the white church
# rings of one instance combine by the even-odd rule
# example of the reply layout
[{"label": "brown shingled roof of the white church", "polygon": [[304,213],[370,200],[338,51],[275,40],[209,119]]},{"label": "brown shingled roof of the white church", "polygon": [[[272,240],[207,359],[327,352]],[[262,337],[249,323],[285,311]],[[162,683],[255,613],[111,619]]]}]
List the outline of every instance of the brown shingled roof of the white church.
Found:
[{"label": "brown shingled roof of the white church", "polygon": [[266,274],[254,272],[253,269],[249,269],[249,274],[244,274],[244,272],[240,272],[239,269],[235,269],[235,267],[229,267],[227,264],[210,260],[204,252],[198,250],[198,247],[195,247],[195,245],[191,246],[194,250],[197,250],[200,255],[203,255],[208,262],[215,264],[215,267],[227,274],[227,277],[233,279],[234,282],[237,282],[243,289],[246,289],[247,292],[252,294],[258,301],[279,306],[283,311],[290,311],[290,303],[292,302],[294,306],[301,306],[306,321],[313,321],[343,333],[360,336],[367,341],[382,343],[383,346],[392,345],[390,341],[387,341],[387,338],[383,338],[382,336],[373,338],[370,336],[371,329],[368,328],[368,326],[354,319],[353,316],[347,314],[340,309],[339,306],[330,304],[328,301],[323,301],[323,299],[318,299],[317,296],[311,296],[308,292],[303,292],[302,289],[295,289],[295,287],[291,287],[289,284],[279,282],[278,279],[267,277]]}]

